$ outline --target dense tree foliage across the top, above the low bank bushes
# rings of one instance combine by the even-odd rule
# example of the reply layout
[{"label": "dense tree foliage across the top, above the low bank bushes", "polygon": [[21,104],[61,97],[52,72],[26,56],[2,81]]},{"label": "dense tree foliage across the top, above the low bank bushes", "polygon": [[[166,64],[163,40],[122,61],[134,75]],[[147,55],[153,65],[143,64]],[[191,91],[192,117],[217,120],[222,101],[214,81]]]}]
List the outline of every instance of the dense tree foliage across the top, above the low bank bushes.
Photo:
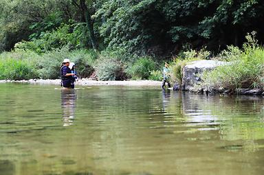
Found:
[{"label": "dense tree foliage across the top, above the low bank bushes", "polygon": [[219,51],[253,30],[263,42],[262,0],[0,0],[0,50],[123,49],[177,54],[190,43]]}]

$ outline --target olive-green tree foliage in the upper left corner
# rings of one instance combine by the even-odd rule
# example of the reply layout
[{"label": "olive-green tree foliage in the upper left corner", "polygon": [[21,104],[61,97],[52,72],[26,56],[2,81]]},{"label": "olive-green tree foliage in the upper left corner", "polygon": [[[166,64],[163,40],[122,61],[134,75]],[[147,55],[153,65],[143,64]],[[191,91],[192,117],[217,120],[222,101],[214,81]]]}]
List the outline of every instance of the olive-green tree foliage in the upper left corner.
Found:
[{"label": "olive-green tree foliage in the upper left corner", "polygon": [[30,26],[58,10],[56,0],[1,0],[0,51],[10,50],[21,40],[28,40]]}]

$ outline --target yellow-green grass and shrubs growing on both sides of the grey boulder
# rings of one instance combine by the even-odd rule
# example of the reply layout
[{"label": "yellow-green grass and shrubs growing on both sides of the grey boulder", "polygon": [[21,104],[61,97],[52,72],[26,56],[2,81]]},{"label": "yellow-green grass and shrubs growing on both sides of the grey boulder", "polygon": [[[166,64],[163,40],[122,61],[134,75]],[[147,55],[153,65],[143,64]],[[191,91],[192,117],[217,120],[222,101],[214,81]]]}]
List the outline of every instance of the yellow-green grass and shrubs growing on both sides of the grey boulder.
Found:
[{"label": "yellow-green grass and shrubs growing on both sides of the grey boulder", "polygon": [[[225,61],[226,64],[210,71],[197,74],[202,80],[195,89],[238,89],[264,88],[264,49],[256,40],[256,32],[245,36],[247,42],[242,48],[233,45],[210,58]],[[174,82],[181,84],[185,65],[195,60],[206,60],[209,51],[186,51],[171,62],[171,75]]]}]

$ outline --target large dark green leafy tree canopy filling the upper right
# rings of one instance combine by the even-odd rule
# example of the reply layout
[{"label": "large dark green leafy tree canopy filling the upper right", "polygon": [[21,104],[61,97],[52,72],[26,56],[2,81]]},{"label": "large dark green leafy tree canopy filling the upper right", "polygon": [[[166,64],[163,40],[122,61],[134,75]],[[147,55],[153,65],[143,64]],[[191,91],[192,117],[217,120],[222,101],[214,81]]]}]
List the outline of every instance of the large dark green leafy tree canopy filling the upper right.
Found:
[{"label": "large dark green leafy tree canopy filling the upper right", "polygon": [[[261,0],[142,0],[101,1],[96,12],[100,35],[111,49],[149,54],[152,48],[166,54],[181,45],[224,49],[242,45],[246,33],[262,36],[264,2]],[[259,21],[259,22],[258,22]],[[260,39],[263,40],[263,37]]]}]

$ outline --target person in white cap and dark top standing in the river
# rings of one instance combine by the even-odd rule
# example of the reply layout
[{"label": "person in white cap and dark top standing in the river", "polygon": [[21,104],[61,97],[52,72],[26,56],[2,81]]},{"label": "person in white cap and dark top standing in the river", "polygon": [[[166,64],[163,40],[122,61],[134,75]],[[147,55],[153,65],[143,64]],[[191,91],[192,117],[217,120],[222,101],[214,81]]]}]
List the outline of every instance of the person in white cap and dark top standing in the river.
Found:
[{"label": "person in white cap and dark top standing in the river", "polygon": [[[69,69],[69,59],[64,59],[61,65],[61,86],[65,89],[72,89],[72,82],[74,82],[74,73]],[[73,86],[74,89],[74,86]]]}]

